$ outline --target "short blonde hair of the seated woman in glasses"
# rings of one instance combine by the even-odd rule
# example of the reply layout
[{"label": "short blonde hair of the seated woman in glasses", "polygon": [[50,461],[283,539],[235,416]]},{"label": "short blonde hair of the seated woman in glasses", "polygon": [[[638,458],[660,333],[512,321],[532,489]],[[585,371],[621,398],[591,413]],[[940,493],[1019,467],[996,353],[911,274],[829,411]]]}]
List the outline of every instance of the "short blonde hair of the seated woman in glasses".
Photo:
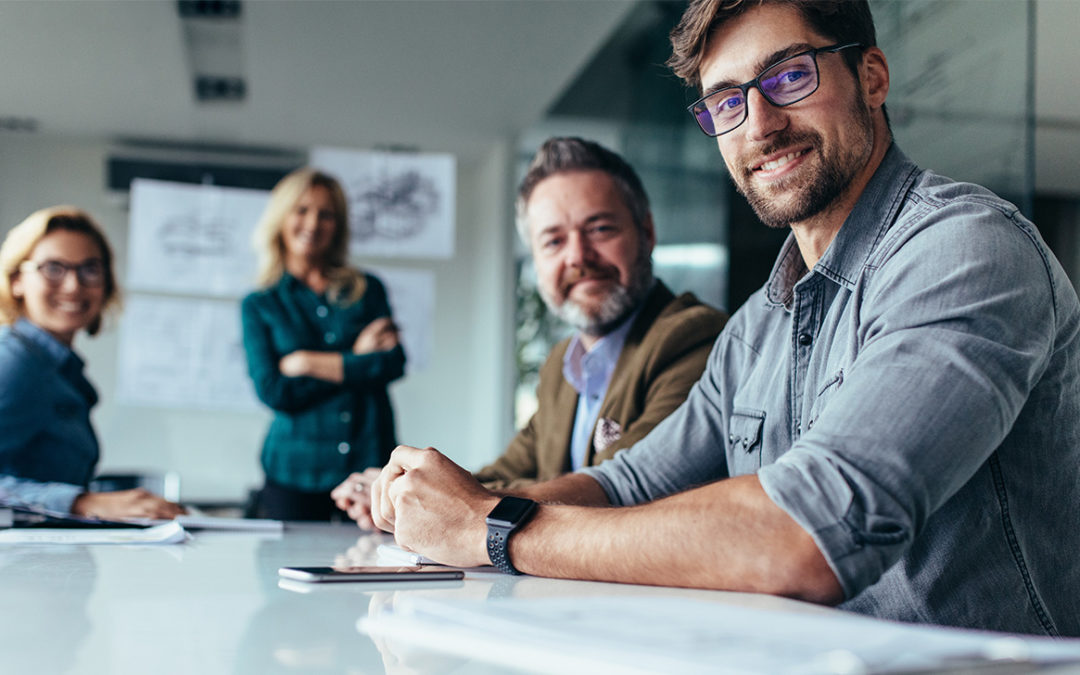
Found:
[{"label": "short blonde hair of the seated woman in glasses", "polygon": [[38,242],[58,230],[85,234],[102,252],[104,302],[102,311],[86,325],[87,335],[97,335],[102,329],[102,316],[120,308],[120,286],[112,271],[112,248],[105,239],[105,232],[90,214],[76,206],[50,206],[36,211],[8,232],[0,245],[0,324],[15,323],[23,315],[23,300],[12,294],[12,282],[18,278],[19,267],[30,259]]}]

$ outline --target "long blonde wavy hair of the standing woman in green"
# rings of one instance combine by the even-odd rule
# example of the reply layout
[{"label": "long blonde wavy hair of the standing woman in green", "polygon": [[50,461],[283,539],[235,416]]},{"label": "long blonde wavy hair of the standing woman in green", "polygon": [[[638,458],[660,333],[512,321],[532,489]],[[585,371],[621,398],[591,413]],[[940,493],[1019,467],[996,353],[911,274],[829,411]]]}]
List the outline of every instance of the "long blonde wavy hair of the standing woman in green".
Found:
[{"label": "long blonde wavy hair of the standing woman in green", "polygon": [[349,206],[345,190],[333,176],[310,166],[288,174],[270,192],[270,203],[252,237],[258,256],[256,283],[260,288],[267,288],[278,283],[285,273],[285,243],[281,231],[297,202],[313,187],[326,188],[334,205],[334,237],[323,261],[323,273],[329,280],[326,295],[334,302],[351,305],[364,296],[367,282],[360,270],[349,266]]}]

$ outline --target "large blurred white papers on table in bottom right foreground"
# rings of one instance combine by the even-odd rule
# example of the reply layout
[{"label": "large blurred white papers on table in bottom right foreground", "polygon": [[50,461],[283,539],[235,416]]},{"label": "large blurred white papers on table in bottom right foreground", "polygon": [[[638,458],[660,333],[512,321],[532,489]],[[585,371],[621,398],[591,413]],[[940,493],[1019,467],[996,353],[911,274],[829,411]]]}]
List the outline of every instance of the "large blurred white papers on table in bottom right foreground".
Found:
[{"label": "large blurred white papers on table in bottom right foreground", "polygon": [[1080,639],[686,597],[406,596],[357,626],[391,643],[540,672],[874,673],[1080,662]]}]

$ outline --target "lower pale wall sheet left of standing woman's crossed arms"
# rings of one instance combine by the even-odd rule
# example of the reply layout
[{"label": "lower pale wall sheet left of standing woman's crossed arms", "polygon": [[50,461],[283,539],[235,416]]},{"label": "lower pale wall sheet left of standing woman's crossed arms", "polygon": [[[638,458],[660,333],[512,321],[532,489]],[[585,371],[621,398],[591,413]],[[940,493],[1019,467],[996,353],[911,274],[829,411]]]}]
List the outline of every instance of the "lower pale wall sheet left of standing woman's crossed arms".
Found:
[{"label": "lower pale wall sheet left of standing woman's crossed arms", "polygon": [[120,320],[119,400],[257,410],[235,301],[130,295]]}]

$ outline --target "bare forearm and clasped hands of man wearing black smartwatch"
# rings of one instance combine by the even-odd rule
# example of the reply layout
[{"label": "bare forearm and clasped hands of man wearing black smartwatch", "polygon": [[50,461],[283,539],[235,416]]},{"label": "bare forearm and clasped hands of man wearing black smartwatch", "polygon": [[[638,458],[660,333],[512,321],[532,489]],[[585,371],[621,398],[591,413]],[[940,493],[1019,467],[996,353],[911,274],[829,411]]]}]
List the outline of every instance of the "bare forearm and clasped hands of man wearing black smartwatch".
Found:
[{"label": "bare forearm and clasped hands of man wearing black smartwatch", "polygon": [[[583,474],[515,494],[542,502],[511,539],[526,573],[842,599],[813,539],[753,475],[626,508]],[[434,448],[400,446],[372,486],[372,515],[402,546],[471,567],[488,563],[484,518],[499,499]]]}]

